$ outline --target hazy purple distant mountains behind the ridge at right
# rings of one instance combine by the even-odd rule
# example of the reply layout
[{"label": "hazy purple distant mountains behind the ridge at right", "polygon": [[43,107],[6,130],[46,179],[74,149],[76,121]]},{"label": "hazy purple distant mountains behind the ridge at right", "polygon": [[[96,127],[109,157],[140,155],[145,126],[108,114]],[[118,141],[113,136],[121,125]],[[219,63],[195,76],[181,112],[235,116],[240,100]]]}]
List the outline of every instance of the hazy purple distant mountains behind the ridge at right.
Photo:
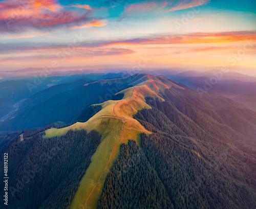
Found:
[{"label": "hazy purple distant mountains behind the ridge at right", "polygon": [[[194,90],[206,90],[204,92],[208,94],[233,99],[256,111],[256,77],[236,72],[223,73],[219,69],[212,69],[203,73],[187,71],[170,75],[168,78],[179,81]],[[248,95],[250,95],[249,98]]]}]

